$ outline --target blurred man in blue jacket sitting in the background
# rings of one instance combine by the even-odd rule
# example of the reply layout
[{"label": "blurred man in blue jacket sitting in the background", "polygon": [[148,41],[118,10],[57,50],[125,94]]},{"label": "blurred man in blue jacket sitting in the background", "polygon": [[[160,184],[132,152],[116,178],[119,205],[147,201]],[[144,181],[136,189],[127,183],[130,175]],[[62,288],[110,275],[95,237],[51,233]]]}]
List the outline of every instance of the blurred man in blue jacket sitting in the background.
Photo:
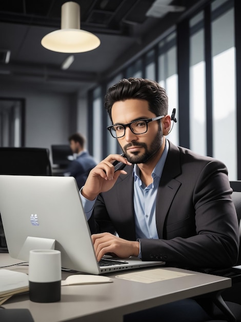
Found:
[{"label": "blurred man in blue jacket sitting in the background", "polygon": [[72,160],[65,176],[73,176],[77,182],[78,188],[81,189],[91,169],[96,166],[96,162],[88,151],[84,150],[85,138],[80,133],[72,134],[69,137],[70,148],[76,154],[76,159]]}]

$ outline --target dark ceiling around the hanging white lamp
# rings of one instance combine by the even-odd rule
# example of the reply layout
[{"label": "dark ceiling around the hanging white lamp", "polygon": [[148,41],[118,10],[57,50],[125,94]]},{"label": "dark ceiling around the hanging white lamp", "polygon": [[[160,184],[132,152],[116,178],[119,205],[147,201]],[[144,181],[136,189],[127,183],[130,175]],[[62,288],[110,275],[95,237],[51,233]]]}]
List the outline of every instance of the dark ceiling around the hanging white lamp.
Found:
[{"label": "dark ceiling around the hanging white lamp", "polygon": [[[147,12],[155,0],[75,0],[81,7],[81,29],[97,35],[101,45],[88,52],[74,53],[74,62],[67,70],[62,70],[61,65],[71,54],[50,51],[41,45],[47,33],[61,28],[61,6],[66,1],[1,1],[0,83],[78,92],[84,97],[89,88],[125,66],[131,57],[173,26],[185,11],[204,2],[159,1],[160,12],[157,11],[160,8],[154,7],[150,16]],[[176,6],[185,10],[176,11],[179,9]],[[7,51],[10,51],[8,63]]]}]

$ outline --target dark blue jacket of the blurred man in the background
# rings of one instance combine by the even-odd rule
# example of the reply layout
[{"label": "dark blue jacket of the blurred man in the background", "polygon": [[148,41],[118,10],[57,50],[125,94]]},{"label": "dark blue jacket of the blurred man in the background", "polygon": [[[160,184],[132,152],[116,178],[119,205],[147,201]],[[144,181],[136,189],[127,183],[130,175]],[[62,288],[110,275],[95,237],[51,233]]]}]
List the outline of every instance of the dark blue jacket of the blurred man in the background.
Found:
[{"label": "dark blue jacket of the blurred man in the background", "polygon": [[84,151],[81,155],[69,164],[65,173],[68,173],[69,176],[75,177],[77,186],[81,189],[89,175],[91,169],[96,166],[94,158],[89,155],[89,152]]}]

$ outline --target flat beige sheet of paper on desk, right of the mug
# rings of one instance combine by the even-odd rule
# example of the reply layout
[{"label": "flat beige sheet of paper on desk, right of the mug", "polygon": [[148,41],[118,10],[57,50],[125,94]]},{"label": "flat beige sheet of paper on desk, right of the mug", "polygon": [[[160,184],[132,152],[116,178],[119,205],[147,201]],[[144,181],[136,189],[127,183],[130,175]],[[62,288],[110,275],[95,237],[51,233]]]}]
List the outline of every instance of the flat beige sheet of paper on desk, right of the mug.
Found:
[{"label": "flat beige sheet of paper on desk, right of the mug", "polygon": [[127,279],[134,282],[140,282],[140,283],[153,283],[153,282],[159,282],[159,281],[164,281],[172,278],[188,276],[188,275],[193,275],[193,274],[169,271],[164,269],[154,269],[154,270],[139,271],[134,273],[117,275],[115,277]]}]

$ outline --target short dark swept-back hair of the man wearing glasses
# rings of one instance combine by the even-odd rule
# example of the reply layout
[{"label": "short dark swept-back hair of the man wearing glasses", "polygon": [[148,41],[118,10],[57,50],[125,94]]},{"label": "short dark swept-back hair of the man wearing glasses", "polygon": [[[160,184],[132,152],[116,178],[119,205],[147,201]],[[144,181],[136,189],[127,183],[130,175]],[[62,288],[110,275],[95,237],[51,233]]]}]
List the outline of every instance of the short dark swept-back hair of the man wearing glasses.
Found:
[{"label": "short dark swept-back hair of the man wearing glasses", "polygon": [[124,78],[109,87],[105,96],[105,108],[109,113],[110,119],[112,120],[111,110],[115,102],[135,98],[147,100],[149,110],[156,116],[167,115],[168,113],[166,91],[157,82],[143,78]]}]

